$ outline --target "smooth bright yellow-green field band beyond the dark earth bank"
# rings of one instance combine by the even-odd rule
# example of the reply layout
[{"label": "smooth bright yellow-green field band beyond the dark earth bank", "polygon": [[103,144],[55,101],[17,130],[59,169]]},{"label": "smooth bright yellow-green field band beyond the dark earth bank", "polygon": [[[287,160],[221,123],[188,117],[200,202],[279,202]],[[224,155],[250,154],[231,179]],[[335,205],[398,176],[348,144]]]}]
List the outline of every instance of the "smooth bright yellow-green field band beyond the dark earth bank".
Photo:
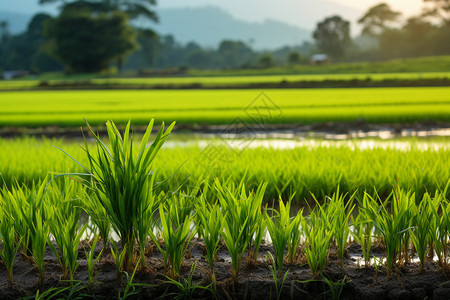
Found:
[{"label": "smooth bright yellow-green field band beyond the dark earth bank", "polygon": [[[450,121],[450,88],[115,90],[0,93],[0,126],[80,126],[150,118],[178,124]],[[256,100],[255,100],[256,99]],[[265,99],[265,100],[262,100]],[[261,120],[262,119],[262,120]]]}]

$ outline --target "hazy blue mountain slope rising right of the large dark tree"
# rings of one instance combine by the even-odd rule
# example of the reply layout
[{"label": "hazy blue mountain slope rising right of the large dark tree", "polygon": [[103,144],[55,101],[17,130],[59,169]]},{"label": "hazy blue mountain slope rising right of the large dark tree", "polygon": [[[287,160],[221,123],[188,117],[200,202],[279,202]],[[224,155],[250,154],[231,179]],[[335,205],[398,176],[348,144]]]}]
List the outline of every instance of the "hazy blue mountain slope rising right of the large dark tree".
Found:
[{"label": "hazy blue mountain slope rising right of the large dark tree", "polygon": [[157,32],[173,34],[182,43],[195,41],[209,47],[232,39],[247,42],[256,49],[273,49],[311,39],[309,30],[275,20],[246,22],[213,6],[161,9],[159,17],[157,25],[151,24]]}]

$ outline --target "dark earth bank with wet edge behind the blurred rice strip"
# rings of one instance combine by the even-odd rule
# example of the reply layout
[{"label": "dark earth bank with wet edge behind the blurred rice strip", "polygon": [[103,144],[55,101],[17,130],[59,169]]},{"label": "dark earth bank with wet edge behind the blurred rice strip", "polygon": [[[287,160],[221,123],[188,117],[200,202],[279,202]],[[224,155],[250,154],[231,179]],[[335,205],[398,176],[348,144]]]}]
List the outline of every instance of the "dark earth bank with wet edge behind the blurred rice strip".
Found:
[{"label": "dark earth bank with wet edge behind the blurred rice strip", "polygon": [[[88,129],[80,122],[79,126],[59,127],[59,126],[42,126],[42,127],[1,127],[0,138],[14,138],[22,136],[47,137],[47,138],[68,138],[82,139],[83,134],[89,136]],[[92,125],[92,124],[91,124]],[[93,126],[95,132],[100,136],[106,136],[105,126]],[[119,128],[120,129],[120,128]],[[133,126],[135,133],[144,133],[147,126]],[[155,126],[155,129],[159,129]],[[349,138],[353,133],[373,133],[376,136],[378,132],[390,132],[393,136],[410,136],[415,132],[429,132],[432,134],[434,130],[449,130],[449,122],[440,121],[419,121],[414,123],[369,123],[365,120],[355,120],[350,122],[321,122],[315,124],[238,124],[231,122],[224,125],[210,124],[178,124],[174,128],[174,133],[180,134],[199,134],[199,135],[227,135],[230,133],[237,134],[240,137],[259,137],[276,134],[289,134],[293,137],[323,137],[326,134],[347,134]]]}]

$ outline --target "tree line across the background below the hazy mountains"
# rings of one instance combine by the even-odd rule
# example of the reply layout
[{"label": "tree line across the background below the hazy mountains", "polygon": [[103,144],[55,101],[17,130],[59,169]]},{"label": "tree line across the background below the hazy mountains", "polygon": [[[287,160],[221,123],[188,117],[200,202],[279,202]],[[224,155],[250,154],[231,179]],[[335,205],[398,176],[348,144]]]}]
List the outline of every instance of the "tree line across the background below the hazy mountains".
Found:
[{"label": "tree line across the background below the hazy mountains", "polygon": [[178,43],[171,35],[134,28],[130,20],[157,21],[155,0],[40,0],[61,2],[56,17],[37,14],[24,33],[9,34],[0,22],[0,69],[89,73],[132,69],[267,68],[308,62],[313,53],[333,61],[386,60],[450,54],[450,0],[424,0],[423,13],[401,20],[388,4],[371,7],[352,40],[350,22],[340,16],[320,21],[312,37],[297,47],[261,52],[242,41],[224,40],[217,48]]}]

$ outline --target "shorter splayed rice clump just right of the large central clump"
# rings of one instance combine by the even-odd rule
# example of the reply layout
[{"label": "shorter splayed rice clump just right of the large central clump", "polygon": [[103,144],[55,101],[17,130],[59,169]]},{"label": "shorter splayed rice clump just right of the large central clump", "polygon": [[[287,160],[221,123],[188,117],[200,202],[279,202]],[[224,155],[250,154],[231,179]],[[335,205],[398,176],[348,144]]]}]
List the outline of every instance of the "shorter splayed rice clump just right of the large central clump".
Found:
[{"label": "shorter splayed rice clump just right of the large central clump", "polygon": [[279,211],[275,211],[276,215],[270,217],[265,212],[265,222],[267,230],[269,231],[272,245],[275,250],[276,265],[278,270],[283,269],[284,251],[292,236],[292,231],[299,231],[299,222],[301,221],[301,215],[297,214],[295,218],[291,220],[291,201],[286,205],[283,201],[279,200]]}]

